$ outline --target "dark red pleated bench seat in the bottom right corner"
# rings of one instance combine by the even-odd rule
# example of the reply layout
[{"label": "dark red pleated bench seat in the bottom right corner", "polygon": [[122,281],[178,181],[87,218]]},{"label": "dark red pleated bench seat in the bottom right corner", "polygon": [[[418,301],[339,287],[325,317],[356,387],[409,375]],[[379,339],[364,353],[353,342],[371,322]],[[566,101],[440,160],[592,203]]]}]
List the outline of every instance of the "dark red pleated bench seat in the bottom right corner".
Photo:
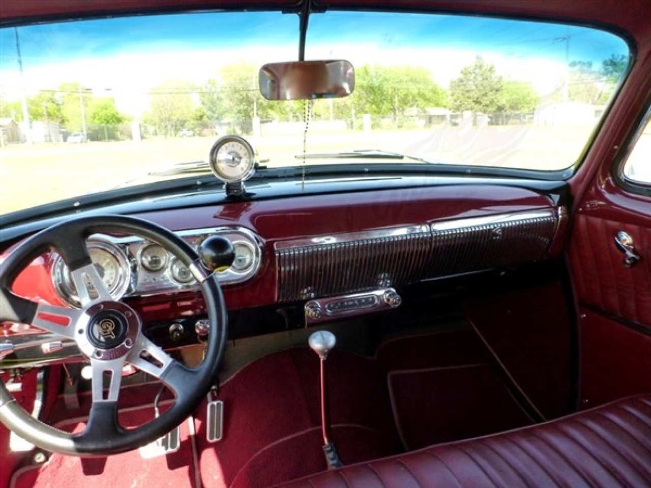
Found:
[{"label": "dark red pleated bench seat in the bottom right corner", "polygon": [[651,395],[321,472],[284,488],[651,487]]}]

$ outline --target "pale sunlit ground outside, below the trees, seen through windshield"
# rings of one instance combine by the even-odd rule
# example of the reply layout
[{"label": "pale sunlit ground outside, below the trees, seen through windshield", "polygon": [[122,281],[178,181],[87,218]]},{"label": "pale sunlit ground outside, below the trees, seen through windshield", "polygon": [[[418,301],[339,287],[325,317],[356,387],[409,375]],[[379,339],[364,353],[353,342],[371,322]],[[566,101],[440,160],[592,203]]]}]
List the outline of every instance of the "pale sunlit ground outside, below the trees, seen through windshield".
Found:
[{"label": "pale sunlit ground outside, below the trees, seen through windshield", "polygon": [[[557,170],[571,165],[584,131],[531,126],[308,133],[307,152],[381,149],[428,161]],[[303,132],[247,137],[269,166],[301,164]],[[16,144],[0,148],[0,215],[109,189],[174,163],[205,161],[215,139]],[[323,160],[311,160],[321,162]],[[350,159],[337,162],[355,161]],[[359,162],[356,160],[355,162]]]}]

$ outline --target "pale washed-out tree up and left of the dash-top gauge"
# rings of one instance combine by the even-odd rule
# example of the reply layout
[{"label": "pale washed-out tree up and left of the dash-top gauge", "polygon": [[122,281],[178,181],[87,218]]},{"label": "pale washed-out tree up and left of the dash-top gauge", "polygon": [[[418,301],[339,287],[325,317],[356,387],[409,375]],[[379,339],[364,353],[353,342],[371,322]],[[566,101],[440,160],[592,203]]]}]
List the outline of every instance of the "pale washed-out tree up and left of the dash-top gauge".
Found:
[{"label": "pale washed-out tree up and left of the dash-top gauge", "polygon": [[167,81],[150,94],[150,111],[146,121],[156,127],[157,133],[170,137],[191,120],[196,105],[193,94],[197,89],[187,81]]}]

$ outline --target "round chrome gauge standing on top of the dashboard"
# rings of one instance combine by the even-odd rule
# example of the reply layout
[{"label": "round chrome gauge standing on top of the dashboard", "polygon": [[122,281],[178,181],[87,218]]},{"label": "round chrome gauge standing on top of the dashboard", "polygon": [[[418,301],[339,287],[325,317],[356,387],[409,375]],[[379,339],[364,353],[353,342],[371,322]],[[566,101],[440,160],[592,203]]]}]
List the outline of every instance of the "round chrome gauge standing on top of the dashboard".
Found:
[{"label": "round chrome gauge standing on top of the dashboard", "polygon": [[253,148],[238,135],[225,135],[210,150],[210,169],[225,183],[242,182],[253,174]]}]

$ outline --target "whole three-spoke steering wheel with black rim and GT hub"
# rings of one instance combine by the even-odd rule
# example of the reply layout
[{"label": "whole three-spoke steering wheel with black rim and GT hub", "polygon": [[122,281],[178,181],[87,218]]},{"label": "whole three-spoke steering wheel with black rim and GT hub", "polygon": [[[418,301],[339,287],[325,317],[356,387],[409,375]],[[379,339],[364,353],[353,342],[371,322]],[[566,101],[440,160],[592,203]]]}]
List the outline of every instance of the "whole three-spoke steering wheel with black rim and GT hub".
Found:
[{"label": "whole three-spoke steering wheel with black rim and GT hub", "polygon": [[[129,305],[116,301],[90,261],[86,239],[92,234],[136,235],[172,252],[201,285],[210,336],[203,362],[194,369],[174,360],[143,334],[143,323]],[[11,291],[27,265],[45,252],[59,253],[70,269],[81,308],[35,303]],[[90,286],[89,290],[89,284]],[[109,455],[126,452],[162,437],[178,426],[210,390],[226,344],[227,314],[217,277],[201,264],[197,252],[171,231],[120,215],[81,217],[56,224],[23,241],[0,264],[0,323],[31,324],[74,340],[92,366],[92,406],[87,426],[66,433],[33,418],[9,394],[0,379],[0,422],[35,446],[66,455]],[[122,368],[132,364],[158,378],[174,401],[157,418],[124,429],[117,416]],[[104,390],[104,377],[110,375]]]}]

